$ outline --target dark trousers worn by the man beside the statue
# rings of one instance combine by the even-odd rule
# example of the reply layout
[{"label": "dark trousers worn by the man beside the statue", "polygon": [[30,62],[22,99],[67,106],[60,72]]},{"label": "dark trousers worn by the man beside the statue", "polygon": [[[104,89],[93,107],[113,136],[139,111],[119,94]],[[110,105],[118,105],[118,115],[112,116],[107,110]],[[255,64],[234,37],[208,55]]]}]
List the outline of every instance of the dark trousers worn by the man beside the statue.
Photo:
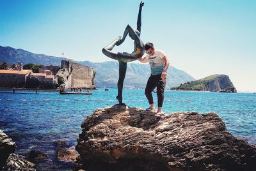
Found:
[{"label": "dark trousers worn by the man beside the statue", "polygon": [[152,91],[156,88],[157,91],[157,105],[158,107],[163,106],[164,102],[164,87],[166,84],[166,79],[161,78],[160,75],[150,75],[148,78],[148,82],[145,88],[145,95],[148,99],[148,103],[151,105],[154,103],[153,101],[153,96],[152,96]]}]

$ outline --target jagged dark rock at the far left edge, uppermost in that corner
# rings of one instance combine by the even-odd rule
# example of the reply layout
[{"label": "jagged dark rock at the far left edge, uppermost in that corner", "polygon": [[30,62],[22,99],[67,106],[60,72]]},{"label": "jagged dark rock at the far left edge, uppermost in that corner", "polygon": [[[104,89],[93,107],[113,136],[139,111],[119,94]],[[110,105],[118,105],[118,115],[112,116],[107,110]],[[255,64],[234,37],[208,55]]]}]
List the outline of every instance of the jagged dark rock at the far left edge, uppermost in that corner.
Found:
[{"label": "jagged dark rock at the far left edge, uppermost in that corner", "polygon": [[15,151],[15,142],[0,130],[0,170],[8,159],[9,155]]}]

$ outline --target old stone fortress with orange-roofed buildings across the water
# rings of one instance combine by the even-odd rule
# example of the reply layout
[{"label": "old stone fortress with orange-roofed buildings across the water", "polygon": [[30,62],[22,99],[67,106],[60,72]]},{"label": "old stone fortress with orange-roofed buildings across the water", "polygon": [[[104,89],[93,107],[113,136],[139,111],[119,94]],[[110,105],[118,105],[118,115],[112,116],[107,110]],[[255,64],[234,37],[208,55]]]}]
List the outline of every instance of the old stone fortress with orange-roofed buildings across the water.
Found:
[{"label": "old stone fortress with orange-roofed buildings across the water", "polygon": [[72,61],[61,61],[59,66],[45,66],[40,73],[32,70],[0,70],[0,87],[54,88],[63,84],[65,88],[95,89],[93,69]]}]

